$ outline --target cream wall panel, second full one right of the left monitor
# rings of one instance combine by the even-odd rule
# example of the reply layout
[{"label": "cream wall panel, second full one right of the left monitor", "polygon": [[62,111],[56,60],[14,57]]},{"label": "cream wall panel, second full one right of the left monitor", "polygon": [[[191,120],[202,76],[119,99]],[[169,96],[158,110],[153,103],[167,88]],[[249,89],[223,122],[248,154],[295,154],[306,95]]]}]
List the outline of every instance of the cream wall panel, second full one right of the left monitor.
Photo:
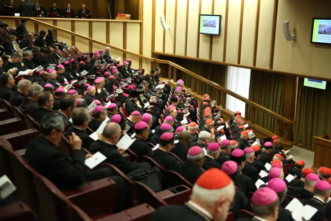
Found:
[{"label": "cream wall panel, second full one right of the left monitor", "polygon": [[239,61],[240,64],[247,66],[253,66],[254,63],[257,1],[258,0],[245,0],[244,4]]}]

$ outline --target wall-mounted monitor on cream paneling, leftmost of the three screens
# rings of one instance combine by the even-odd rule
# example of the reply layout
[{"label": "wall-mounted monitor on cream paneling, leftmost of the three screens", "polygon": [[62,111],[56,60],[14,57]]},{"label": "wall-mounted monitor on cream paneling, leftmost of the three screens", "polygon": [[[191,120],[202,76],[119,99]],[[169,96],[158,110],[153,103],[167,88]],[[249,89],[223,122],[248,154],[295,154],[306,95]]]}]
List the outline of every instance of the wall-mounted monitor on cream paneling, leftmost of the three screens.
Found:
[{"label": "wall-mounted monitor on cream paneling, leftmost of the three screens", "polygon": [[200,15],[200,34],[221,34],[222,15]]}]

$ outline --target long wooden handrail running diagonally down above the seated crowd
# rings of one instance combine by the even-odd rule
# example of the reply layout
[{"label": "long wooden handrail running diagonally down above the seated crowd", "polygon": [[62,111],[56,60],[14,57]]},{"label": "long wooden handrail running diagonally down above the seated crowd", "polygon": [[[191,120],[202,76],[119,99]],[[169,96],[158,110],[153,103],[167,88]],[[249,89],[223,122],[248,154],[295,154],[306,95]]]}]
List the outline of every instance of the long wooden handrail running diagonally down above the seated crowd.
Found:
[{"label": "long wooden handrail running diagonally down above the seated crowd", "polygon": [[[8,19],[10,19],[10,17],[8,17]],[[75,32],[72,32],[72,31],[69,31],[69,30],[66,30],[66,29],[63,29],[63,28],[59,28],[59,27],[50,25],[48,23],[42,22],[42,21],[37,20],[37,19],[33,19],[33,18],[27,18],[27,19],[34,22],[34,23],[37,23],[39,25],[48,26],[48,27],[51,27],[53,29],[63,31],[67,34],[71,34],[75,37],[82,38],[82,39],[88,40],[90,42],[103,45],[105,47],[110,47],[111,49],[120,51],[120,52],[125,53],[127,55],[133,55],[133,56],[136,56],[136,57],[139,57],[141,59],[151,61],[151,62],[168,64],[169,65],[169,74],[168,74],[169,79],[177,80],[176,73],[177,73],[177,70],[180,70],[180,71],[188,74],[190,77],[192,77],[192,80],[193,80],[192,82],[200,81],[200,82],[203,82],[203,83],[206,83],[206,84],[210,85],[211,87],[215,88],[218,91],[218,93],[217,93],[218,97],[216,98],[216,100],[220,101],[219,104],[221,104],[222,107],[225,107],[225,101],[226,101],[225,98],[226,98],[227,94],[234,97],[234,98],[236,98],[236,99],[238,99],[238,100],[240,100],[240,101],[242,101],[242,102],[244,102],[246,104],[246,110],[248,110],[249,107],[251,108],[249,123],[251,123],[253,125],[255,124],[255,111],[256,110],[263,111],[264,113],[266,113],[266,114],[270,115],[271,117],[275,118],[276,122],[277,122],[276,134],[280,135],[283,138],[284,141],[286,141],[286,135],[289,132],[289,130],[291,129],[291,127],[293,126],[293,124],[295,123],[295,121],[287,119],[286,117],[283,117],[283,116],[281,116],[280,114],[278,114],[274,111],[271,111],[271,110],[255,103],[255,102],[253,102],[253,101],[251,101],[251,100],[249,100],[245,97],[242,97],[239,94],[236,94],[236,93],[230,91],[229,89],[227,89],[227,88],[225,88],[225,87],[223,87],[223,86],[221,86],[217,83],[211,82],[208,79],[206,79],[206,78],[204,78],[204,77],[202,77],[202,76],[200,76],[196,73],[193,73],[192,71],[189,71],[186,68],[184,68],[184,67],[182,67],[182,66],[180,66],[180,65],[178,65],[178,64],[176,64],[172,61],[160,60],[160,59],[150,58],[150,57],[146,57],[146,56],[139,55],[139,54],[136,54],[136,53],[132,53],[132,52],[129,52],[127,50],[124,50],[124,49],[106,44],[104,42],[100,42],[100,41],[94,40],[92,38],[85,37],[85,36],[77,34]],[[187,85],[187,86],[190,86],[190,85]],[[196,88],[195,88],[195,86],[192,86],[191,89],[192,89],[192,91],[195,91]],[[218,108],[223,109],[222,107],[219,106]]]}]

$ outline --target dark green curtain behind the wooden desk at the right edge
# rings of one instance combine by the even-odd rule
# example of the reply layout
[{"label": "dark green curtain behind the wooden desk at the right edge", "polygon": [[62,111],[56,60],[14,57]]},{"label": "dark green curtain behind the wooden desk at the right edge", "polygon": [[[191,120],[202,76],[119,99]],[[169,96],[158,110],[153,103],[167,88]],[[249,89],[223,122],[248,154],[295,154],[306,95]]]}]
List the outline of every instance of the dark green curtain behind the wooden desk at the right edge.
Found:
[{"label": "dark green curtain behind the wooden desk at the right edge", "polygon": [[327,89],[304,86],[299,79],[294,142],[314,149],[313,137],[331,134],[331,85]]}]

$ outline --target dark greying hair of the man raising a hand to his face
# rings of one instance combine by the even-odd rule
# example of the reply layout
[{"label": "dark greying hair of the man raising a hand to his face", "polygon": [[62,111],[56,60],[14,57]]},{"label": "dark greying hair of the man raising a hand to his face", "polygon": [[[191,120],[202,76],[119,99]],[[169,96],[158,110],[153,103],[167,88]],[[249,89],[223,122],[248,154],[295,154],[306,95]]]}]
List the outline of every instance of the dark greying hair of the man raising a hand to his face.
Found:
[{"label": "dark greying hair of the man raising a hand to his face", "polygon": [[44,135],[50,135],[52,130],[60,132],[64,127],[63,118],[58,113],[48,113],[41,119],[39,132]]}]

